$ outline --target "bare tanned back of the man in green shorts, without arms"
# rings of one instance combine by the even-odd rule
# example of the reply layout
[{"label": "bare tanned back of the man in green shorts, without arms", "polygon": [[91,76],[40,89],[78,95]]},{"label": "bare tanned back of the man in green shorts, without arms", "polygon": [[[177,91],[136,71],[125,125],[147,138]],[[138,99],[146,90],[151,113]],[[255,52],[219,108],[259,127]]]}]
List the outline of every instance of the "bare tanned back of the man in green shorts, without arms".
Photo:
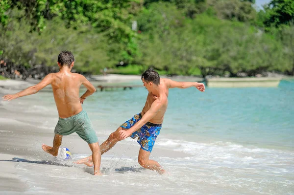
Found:
[{"label": "bare tanned back of the man in green shorts, without arms", "polygon": [[71,72],[52,74],[51,86],[60,118],[68,118],[82,111],[79,101],[81,75]]}]

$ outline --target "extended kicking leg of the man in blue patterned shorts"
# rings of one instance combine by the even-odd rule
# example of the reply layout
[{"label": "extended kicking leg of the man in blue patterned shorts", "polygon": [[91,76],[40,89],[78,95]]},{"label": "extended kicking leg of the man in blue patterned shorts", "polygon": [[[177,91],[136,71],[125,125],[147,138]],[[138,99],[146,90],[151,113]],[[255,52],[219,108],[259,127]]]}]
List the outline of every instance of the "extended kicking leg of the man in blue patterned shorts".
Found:
[{"label": "extended kicking leg of the man in blue patterned shorts", "polygon": [[[101,155],[105,152],[108,152],[110,149],[112,149],[116,143],[118,141],[121,141],[120,139],[120,130],[127,130],[127,129],[124,129],[122,127],[119,127],[116,131],[114,131],[113,133],[111,133],[108,137],[108,139],[106,141],[104,141],[101,145],[100,145],[100,149],[101,149]],[[92,158],[92,155],[91,156],[88,156],[86,158],[82,158],[78,161],[75,161],[73,163],[76,163],[76,164],[85,164],[89,167],[92,167],[93,166],[93,158]]]}]

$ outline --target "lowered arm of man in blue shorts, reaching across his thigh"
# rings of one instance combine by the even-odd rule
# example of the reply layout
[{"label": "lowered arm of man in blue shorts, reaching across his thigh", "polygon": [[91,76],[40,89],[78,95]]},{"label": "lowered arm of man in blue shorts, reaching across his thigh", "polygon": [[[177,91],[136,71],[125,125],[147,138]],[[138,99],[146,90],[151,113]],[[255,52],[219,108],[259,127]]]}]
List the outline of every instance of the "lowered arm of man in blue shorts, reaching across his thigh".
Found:
[{"label": "lowered arm of man in blue shorts, reaching across his thigh", "polygon": [[159,100],[155,100],[150,109],[144,114],[142,119],[140,119],[133,127],[131,127],[129,130],[120,130],[120,138],[125,139],[136,130],[139,130],[143,125],[145,125],[149,120],[151,120],[159,111],[159,109],[162,107],[162,103],[159,102]]}]

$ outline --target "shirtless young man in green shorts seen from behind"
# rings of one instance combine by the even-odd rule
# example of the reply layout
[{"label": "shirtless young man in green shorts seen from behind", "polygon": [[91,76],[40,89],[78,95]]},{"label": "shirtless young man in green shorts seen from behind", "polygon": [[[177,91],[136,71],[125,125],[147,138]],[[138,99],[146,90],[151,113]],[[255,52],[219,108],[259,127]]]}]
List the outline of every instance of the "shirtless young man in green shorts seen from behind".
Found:
[{"label": "shirtless young man in green shorts seen from behind", "polygon": [[[53,147],[43,144],[43,150],[57,156],[62,136],[76,132],[89,144],[93,152],[94,174],[100,175],[101,152],[98,138],[86,111],[81,106],[86,97],[92,95],[96,89],[83,75],[71,73],[74,57],[70,51],[62,51],[58,55],[57,64],[60,68],[59,72],[47,75],[35,86],[28,87],[16,94],[5,95],[3,99],[10,101],[31,95],[51,84],[59,120],[54,131]],[[79,98],[81,85],[85,86],[87,91]]]}]

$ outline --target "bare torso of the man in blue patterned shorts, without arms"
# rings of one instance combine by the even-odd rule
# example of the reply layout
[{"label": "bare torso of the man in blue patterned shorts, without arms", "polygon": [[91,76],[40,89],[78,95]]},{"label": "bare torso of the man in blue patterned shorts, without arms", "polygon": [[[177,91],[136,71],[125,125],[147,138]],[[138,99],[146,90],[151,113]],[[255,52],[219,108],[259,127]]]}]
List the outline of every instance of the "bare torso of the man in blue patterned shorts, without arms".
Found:
[{"label": "bare torso of the man in blue patterned shorts, without arms", "polygon": [[163,104],[162,108],[157,112],[157,114],[151,120],[149,120],[150,123],[154,123],[154,124],[163,123],[164,114],[168,108],[169,87],[165,79],[160,79],[159,91],[160,91],[159,97],[154,96],[151,92],[148,93],[145,106],[141,112],[142,116],[144,116],[144,114],[150,109],[152,103],[157,99],[160,100]]}]

